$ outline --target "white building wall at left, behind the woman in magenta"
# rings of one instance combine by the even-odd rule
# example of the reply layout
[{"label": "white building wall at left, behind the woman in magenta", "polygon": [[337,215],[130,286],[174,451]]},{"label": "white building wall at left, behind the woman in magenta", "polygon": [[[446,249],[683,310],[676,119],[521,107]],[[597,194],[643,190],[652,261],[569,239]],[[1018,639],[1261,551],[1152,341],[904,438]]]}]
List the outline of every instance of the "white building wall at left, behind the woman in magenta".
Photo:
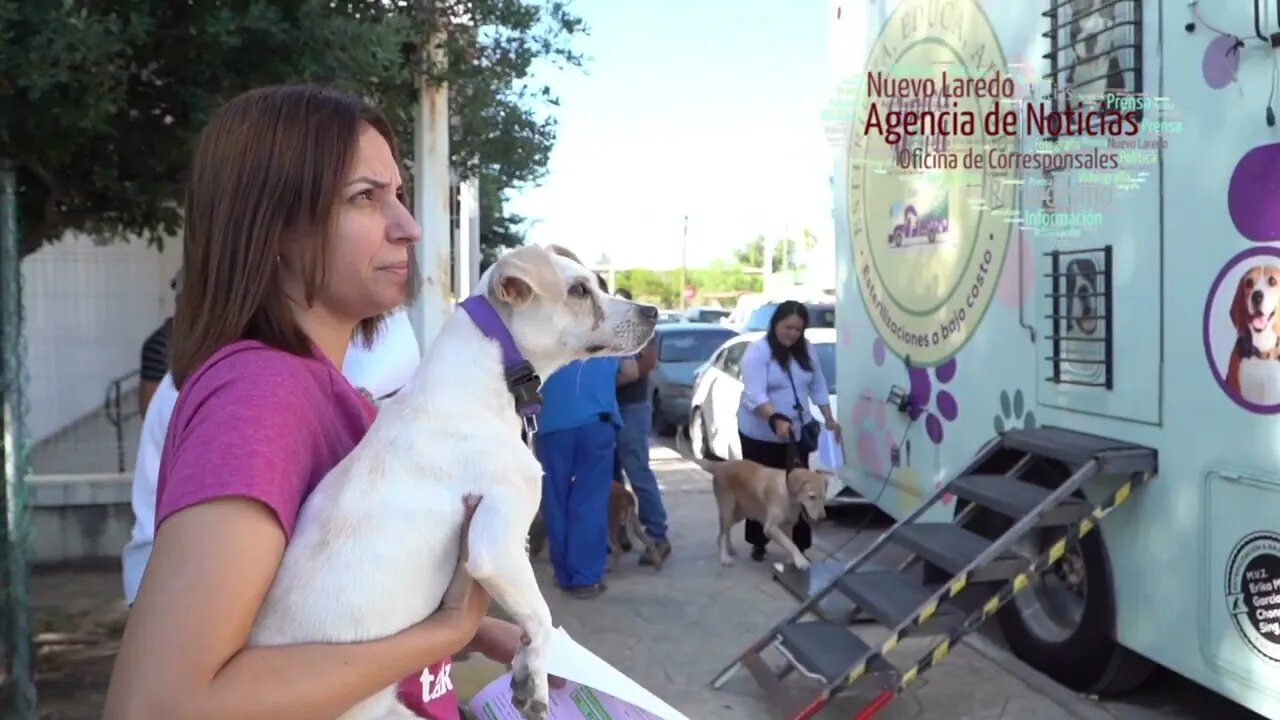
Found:
[{"label": "white building wall at left, behind the woman in magenta", "polygon": [[142,341],[173,313],[180,255],[179,238],[160,252],[68,233],[23,259],[32,442],[100,411],[111,379],[138,369]]}]

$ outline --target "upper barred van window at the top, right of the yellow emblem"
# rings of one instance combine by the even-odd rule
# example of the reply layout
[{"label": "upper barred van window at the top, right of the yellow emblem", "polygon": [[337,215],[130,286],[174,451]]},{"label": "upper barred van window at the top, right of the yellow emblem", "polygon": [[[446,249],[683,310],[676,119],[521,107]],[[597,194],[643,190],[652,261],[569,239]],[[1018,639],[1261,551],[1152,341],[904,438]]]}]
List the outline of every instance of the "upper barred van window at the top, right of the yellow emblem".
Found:
[{"label": "upper barred van window at the top, right of the yellow emblem", "polygon": [[[1116,96],[1142,95],[1142,0],[1050,0],[1041,14],[1052,109],[1119,110]],[[1140,104],[1133,110],[1140,122]]]}]

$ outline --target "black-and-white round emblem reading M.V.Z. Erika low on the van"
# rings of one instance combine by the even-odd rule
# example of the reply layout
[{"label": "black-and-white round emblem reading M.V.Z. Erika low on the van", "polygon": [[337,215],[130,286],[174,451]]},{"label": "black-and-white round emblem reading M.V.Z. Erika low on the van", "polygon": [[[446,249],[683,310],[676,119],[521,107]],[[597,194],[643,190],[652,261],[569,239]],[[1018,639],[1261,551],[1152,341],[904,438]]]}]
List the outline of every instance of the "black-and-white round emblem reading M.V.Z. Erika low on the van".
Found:
[{"label": "black-and-white round emblem reading M.V.Z. Erika low on the van", "polygon": [[1280,536],[1253,533],[1226,561],[1226,607],[1240,637],[1280,662]]}]

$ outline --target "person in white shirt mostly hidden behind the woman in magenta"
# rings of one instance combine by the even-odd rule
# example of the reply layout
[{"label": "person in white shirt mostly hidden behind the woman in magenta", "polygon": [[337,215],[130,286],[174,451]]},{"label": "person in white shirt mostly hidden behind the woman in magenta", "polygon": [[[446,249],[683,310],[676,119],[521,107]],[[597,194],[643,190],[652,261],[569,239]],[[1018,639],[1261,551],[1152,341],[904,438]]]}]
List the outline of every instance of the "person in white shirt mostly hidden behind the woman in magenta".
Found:
[{"label": "person in white shirt mostly hidden behind the woman in magenta", "polygon": [[[421,354],[417,348],[417,336],[406,311],[398,310],[389,315],[378,329],[374,342],[365,347],[358,340],[352,340],[342,364],[342,374],[352,386],[362,389],[374,402],[380,402],[404,387]],[[155,541],[156,484],[160,480],[160,451],[164,448],[165,432],[173,406],[178,402],[178,388],[173,375],[165,373],[156,387],[151,402],[142,419],[142,433],[138,438],[138,455],[133,465],[133,530],[128,544],[120,553],[123,569],[124,600],[133,605],[142,584],[142,573],[151,559],[151,543]]]}]

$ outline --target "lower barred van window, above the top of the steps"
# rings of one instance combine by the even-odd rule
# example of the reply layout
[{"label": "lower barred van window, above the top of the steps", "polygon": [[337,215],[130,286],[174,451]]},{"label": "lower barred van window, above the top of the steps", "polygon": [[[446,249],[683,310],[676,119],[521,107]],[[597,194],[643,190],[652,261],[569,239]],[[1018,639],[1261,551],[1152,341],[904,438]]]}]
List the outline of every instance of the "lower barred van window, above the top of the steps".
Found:
[{"label": "lower barred van window, above the top of the steps", "polygon": [[1052,347],[1046,357],[1052,383],[1112,389],[1111,246],[1092,250],[1052,250],[1046,315]]}]

